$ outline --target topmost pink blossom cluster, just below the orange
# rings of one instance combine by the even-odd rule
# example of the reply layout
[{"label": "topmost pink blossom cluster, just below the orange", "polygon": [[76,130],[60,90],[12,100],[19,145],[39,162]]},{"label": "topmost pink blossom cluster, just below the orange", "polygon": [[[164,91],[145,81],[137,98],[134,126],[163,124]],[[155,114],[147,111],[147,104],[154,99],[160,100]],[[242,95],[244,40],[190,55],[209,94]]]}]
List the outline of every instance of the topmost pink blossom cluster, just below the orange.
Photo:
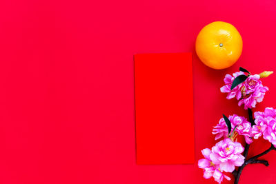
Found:
[{"label": "topmost pink blossom cluster, just below the orange", "polygon": [[266,94],[268,88],[262,85],[262,81],[259,80],[259,74],[254,74],[249,75],[244,82],[239,83],[239,85],[231,90],[234,79],[240,75],[246,74],[244,72],[235,72],[233,75],[226,74],[224,78],[225,85],[220,90],[221,92],[228,93],[227,99],[236,98],[239,101],[238,105],[244,105],[244,109],[255,108],[257,103],[263,101],[264,94]]}]

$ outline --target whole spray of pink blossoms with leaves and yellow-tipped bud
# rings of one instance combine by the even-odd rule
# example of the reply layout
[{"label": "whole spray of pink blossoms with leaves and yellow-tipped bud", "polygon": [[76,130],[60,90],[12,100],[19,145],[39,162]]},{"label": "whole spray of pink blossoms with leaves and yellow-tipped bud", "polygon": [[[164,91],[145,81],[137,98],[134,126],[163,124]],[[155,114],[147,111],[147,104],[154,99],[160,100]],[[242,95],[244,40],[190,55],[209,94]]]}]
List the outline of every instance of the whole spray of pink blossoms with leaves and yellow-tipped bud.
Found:
[{"label": "whole spray of pink blossoms with leaves and yellow-tipped bud", "polygon": [[[248,109],[251,120],[249,122],[243,116],[236,114],[228,117],[224,115],[212,132],[215,134],[215,140],[222,138],[222,141],[219,141],[211,150],[208,148],[202,150],[204,159],[200,159],[198,162],[199,168],[204,170],[204,178],[213,177],[218,183],[221,183],[224,178],[229,181],[230,178],[224,173],[231,173],[235,167],[244,164],[246,159],[242,155],[244,147],[237,142],[237,136],[243,136],[247,144],[252,143],[253,138],[258,139],[263,136],[264,139],[276,146],[276,110],[266,108],[264,112],[255,112],[254,122],[252,110],[250,110],[255,108],[257,103],[263,101],[264,94],[268,91],[268,88],[264,87],[259,79],[267,77],[273,72],[251,75],[244,68],[239,70],[241,71],[235,72],[233,75],[226,74],[225,85],[221,88],[221,92],[228,93],[227,99],[236,98],[239,101],[239,106],[244,105],[244,109]],[[231,88],[233,89],[231,90]]]}]

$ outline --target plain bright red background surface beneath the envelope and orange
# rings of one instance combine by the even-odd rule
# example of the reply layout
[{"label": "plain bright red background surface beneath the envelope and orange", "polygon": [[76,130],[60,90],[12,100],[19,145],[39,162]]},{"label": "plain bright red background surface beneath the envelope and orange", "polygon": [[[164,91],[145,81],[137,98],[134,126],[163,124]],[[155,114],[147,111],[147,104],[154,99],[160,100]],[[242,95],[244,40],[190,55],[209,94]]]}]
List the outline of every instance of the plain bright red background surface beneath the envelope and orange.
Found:
[{"label": "plain bright red background surface beneath the envelope and orange", "polygon": [[[2,0],[0,183],[213,183],[197,163],[135,164],[133,54],[194,53],[198,160],[215,143],[222,113],[246,115],[219,92],[224,75],[239,66],[275,70],[275,8],[275,1]],[[242,34],[242,57],[227,70],[195,55],[197,33],[212,21]],[[270,91],[258,110],[276,107],[275,80],[264,79]],[[264,143],[253,143],[250,155]],[[276,152],[265,158],[270,166],[248,165],[240,183],[275,183]]]}]

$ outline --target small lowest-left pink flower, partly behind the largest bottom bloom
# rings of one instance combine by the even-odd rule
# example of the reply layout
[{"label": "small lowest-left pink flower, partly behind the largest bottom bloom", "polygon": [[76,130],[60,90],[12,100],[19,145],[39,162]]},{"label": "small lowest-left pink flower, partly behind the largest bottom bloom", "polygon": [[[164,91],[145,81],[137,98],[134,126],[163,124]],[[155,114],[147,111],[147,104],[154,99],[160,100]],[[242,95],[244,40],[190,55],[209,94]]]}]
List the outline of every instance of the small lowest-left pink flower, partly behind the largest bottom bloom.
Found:
[{"label": "small lowest-left pink flower, partly behind the largest bottom bloom", "polygon": [[230,181],[230,178],[220,171],[219,165],[215,165],[210,160],[210,149],[206,148],[202,150],[201,153],[204,155],[205,159],[200,159],[198,165],[199,168],[204,169],[204,178],[208,179],[213,177],[218,183],[221,183],[224,178]]}]

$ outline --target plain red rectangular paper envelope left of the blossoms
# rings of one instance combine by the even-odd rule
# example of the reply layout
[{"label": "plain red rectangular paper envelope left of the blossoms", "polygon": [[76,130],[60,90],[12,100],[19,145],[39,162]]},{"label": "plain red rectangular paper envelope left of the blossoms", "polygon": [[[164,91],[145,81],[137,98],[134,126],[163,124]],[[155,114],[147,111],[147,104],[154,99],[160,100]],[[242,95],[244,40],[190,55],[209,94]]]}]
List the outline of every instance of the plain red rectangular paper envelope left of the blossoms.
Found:
[{"label": "plain red rectangular paper envelope left of the blossoms", "polygon": [[194,163],[191,53],[135,55],[138,165]]}]

